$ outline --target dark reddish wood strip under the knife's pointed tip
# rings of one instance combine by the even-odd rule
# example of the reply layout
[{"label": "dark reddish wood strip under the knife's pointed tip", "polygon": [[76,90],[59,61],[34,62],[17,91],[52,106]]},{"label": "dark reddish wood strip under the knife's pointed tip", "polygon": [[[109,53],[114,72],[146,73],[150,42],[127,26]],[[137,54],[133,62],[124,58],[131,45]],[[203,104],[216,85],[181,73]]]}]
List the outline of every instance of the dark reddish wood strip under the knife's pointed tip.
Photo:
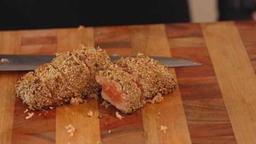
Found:
[{"label": "dark reddish wood strip under the knife's pointed tip", "polygon": [[[199,24],[187,25],[185,31],[179,30],[178,24],[176,27],[178,32],[166,27],[167,35],[172,35],[169,39],[181,35],[202,37]],[[195,45],[172,47],[171,44],[170,48],[173,57],[202,63],[198,67],[175,69],[192,143],[236,143],[207,48]]]}]

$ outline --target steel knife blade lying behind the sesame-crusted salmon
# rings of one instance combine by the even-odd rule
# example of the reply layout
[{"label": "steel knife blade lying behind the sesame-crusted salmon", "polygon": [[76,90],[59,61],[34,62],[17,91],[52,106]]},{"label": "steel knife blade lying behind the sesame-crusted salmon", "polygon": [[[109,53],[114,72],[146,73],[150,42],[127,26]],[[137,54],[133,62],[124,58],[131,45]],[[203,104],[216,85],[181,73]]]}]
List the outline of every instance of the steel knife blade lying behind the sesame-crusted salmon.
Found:
[{"label": "steel knife blade lying behind the sesame-crusted salmon", "polygon": [[[15,71],[15,70],[34,70],[44,63],[50,63],[55,55],[0,55],[0,59],[7,58],[8,63],[0,63],[0,71]],[[121,57],[127,56],[109,56],[111,61],[115,61]],[[136,57],[136,56],[132,56]],[[188,61],[186,59],[172,58],[172,57],[155,57],[150,58],[160,61],[169,68],[174,67],[190,67],[201,65],[201,63]]]}]

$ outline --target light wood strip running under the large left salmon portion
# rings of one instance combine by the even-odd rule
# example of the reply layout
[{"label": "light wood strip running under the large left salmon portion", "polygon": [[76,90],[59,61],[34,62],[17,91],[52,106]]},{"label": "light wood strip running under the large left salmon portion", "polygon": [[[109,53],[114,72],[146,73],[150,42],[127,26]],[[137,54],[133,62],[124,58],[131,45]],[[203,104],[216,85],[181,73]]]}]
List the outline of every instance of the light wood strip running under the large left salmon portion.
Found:
[{"label": "light wood strip running under the large left salmon portion", "polygon": [[[94,46],[92,28],[58,29],[58,52],[72,51],[78,45]],[[85,105],[66,105],[56,107],[56,143],[96,143],[100,141],[100,126],[98,121],[98,101],[89,99]],[[88,111],[92,111],[95,117],[84,117]],[[74,116],[72,115],[74,112]],[[65,127],[72,124],[76,131],[74,137],[68,137]]]}]

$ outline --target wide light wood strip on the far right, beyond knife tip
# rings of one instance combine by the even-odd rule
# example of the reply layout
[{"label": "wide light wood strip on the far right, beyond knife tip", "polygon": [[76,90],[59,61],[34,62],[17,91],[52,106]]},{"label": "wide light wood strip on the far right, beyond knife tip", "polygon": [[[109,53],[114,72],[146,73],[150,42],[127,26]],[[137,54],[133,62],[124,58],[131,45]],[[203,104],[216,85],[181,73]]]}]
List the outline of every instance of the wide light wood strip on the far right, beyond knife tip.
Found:
[{"label": "wide light wood strip on the far right, beyond knife tip", "polygon": [[234,22],[202,24],[238,143],[256,141],[256,77]]}]

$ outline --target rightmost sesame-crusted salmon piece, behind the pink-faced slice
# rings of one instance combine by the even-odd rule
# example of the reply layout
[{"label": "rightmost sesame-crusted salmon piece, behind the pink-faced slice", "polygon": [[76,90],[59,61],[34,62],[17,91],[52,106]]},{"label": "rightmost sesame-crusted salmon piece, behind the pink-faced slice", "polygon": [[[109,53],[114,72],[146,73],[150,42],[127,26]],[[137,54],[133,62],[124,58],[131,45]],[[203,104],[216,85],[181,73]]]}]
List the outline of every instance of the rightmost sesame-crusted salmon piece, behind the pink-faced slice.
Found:
[{"label": "rightmost sesame-crusted salmon piece, behind the pink-faced slice", "polygon": [[176,81],[168,68],[155,59],[139,54],[136,58],[120,58],[114,62],[127,73],[137,77],[142,99],[150,103],[162,101],[163,94],[176,88]]}]

